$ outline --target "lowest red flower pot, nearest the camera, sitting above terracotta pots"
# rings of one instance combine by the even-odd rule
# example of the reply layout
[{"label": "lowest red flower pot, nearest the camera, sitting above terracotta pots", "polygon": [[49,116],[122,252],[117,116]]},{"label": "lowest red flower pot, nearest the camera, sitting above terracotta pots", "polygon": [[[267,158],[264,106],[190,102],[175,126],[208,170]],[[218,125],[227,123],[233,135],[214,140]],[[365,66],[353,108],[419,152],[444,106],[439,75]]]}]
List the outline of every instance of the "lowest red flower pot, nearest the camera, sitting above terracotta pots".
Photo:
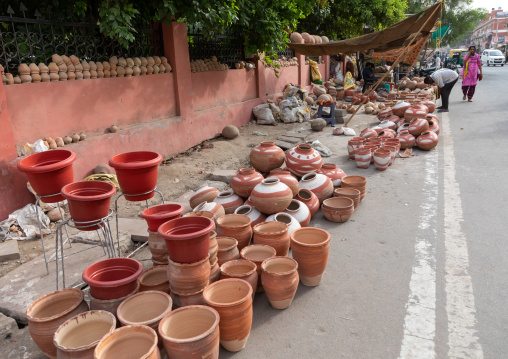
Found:
[{"label": "lowest red flower pot, nearest the camera, sitting above terracotta pots", "polygon": [[109,258],[88,266],[83,271],[83,281],[95,299],[118,299],[137,288],[142,271],[143,265],[135,259]]}]

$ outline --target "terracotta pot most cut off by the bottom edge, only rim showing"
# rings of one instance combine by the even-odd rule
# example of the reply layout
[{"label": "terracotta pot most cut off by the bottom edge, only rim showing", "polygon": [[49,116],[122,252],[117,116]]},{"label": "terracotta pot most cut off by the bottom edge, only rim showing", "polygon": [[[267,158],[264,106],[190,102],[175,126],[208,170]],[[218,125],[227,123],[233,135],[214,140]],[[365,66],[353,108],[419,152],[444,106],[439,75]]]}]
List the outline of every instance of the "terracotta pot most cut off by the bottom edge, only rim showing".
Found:
[{"label": "terracotta pot most cut off by the bottom edge, only rim showing", "polygon": [[157,333],[146,325],[128,325],[106,334],[94,352],[94,359],[160,359]]}]

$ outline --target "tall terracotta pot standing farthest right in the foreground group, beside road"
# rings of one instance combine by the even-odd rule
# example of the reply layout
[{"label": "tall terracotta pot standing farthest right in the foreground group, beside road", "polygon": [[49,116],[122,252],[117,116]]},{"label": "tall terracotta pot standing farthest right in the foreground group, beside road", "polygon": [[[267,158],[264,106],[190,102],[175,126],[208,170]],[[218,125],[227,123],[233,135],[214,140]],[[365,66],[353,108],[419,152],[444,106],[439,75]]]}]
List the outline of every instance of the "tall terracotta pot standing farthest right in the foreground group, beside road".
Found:
[{"label": "tall terracotta pot standing farthest right in the foreground group, beside road", "polygon": [[298,262],[298,275],[303,285],[314,287],[328,263],[330,233],[320,228],[300,228],[291,234],[291,254]]}]

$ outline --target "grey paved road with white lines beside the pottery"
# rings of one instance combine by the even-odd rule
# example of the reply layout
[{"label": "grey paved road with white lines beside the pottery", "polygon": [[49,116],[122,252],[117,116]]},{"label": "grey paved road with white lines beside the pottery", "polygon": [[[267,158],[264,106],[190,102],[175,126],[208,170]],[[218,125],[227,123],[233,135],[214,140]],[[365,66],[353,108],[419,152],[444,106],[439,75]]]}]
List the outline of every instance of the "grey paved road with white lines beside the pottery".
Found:
[{"label": "grey paved road with white lines beside the pottery", "polygon": [[284,311],[258,295],[247,347],[221,358],[508,358],[507,83],[485,67],[473,103],[457,83],[438,148],[385,172],[323,139],[367,197],[347,223],[313,219],[332,234],[322,283]]}]

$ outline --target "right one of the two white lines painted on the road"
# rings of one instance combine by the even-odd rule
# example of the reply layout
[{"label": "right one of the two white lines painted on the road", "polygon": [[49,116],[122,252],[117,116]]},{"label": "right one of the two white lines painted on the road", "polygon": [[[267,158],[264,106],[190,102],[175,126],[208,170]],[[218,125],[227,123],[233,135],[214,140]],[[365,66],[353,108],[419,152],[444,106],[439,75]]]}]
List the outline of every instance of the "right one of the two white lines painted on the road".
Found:
[{"label": "right one of the two white lines painted on the road", "polygon": [[444,147],[445,290],[448,316],[448,357],[483,358],[476,325],[473,285],[469,275],[469,254],[462,231],[464,216],[460,189],[455,177],[455,155],[448,114],[440,123]]}]

